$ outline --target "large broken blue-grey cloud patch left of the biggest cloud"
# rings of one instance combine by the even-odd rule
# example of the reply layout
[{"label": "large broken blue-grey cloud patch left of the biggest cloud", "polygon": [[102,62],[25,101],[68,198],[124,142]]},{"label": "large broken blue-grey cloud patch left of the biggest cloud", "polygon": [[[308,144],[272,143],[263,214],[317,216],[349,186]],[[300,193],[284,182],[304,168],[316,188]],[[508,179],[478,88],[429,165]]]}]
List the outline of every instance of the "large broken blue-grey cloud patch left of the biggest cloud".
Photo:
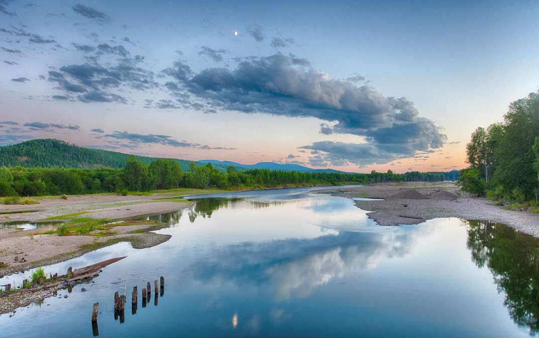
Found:
[{"label": "large broken blue-grey cloud patch left of the biggest cloud", "polygon": [[66,95],[74,95],[80,102],[120,102],[127,98],[116,94],[113,89],[147,90],[157,88],[154,73],[139,66],[140,58],[121,58],[116,65],[101,66],[97,62],[82,65],[67,65],[59,71],[49,71],[47,80],[58,83],[58,89]]}]

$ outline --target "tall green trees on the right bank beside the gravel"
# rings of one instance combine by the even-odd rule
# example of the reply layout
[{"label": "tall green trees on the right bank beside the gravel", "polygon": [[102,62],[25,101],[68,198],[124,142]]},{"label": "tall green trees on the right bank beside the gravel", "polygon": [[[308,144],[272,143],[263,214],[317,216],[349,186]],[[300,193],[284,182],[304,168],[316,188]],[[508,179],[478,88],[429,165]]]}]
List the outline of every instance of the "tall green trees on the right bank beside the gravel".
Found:
[{"label": "tall green trees on the right bank beside the gravel", "polygon": [[479,127],[466,146],[465,191],[489,199],[533,200],[539,195],[539,93],[509,105],[502,123]]}]

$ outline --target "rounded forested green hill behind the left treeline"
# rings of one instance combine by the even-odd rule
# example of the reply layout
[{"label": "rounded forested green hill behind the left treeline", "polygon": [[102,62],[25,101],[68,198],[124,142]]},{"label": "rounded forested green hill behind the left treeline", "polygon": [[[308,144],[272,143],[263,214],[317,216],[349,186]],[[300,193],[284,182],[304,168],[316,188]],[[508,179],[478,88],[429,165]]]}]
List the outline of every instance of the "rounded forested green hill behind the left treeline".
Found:
[{"label": "rounded forested green hill behind the left treeline", "polygon": [[[123,168],[129,154],[115,151],[91,149],[69,144],[57,139],[34,139],[14,145],[0,146],[0,166],[13,167],[64,167],[64,168]],[[136,159],[149,165],[156,158],[136,156]],[[189,161],[176,159],[182,169],[189,169]],[[205,164],[199,164],[205,165]],[[227,165],[214,165],[224,172]],[[244,170],[244,168],[237,168]]]}]

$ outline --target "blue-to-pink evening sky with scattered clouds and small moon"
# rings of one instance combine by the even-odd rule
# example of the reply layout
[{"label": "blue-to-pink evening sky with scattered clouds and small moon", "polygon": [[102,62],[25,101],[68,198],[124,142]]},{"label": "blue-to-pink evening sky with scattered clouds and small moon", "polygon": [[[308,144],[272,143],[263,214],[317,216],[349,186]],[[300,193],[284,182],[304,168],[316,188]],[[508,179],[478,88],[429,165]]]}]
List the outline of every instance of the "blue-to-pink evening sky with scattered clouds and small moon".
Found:
[{"label": "blue-to-pink evening sky with scattered clouds and small moon", "polygon": [[0,145],[460,169],[537,41],[536,1],[0,0]]}]

